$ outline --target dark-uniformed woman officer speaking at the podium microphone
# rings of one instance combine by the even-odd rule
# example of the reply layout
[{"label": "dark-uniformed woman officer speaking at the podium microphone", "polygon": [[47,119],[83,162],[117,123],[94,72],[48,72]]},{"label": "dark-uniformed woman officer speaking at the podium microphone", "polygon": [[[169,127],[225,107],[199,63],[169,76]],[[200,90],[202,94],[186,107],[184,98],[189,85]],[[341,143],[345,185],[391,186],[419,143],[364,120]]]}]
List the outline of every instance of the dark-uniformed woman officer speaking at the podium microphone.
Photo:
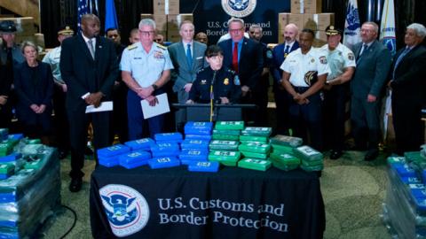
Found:
[{"label": "dark-uniformed woman officer speaking at the podium microphone", "polygon": [[205,56],[209,66],[197,73],[186,103],[209,103],[211,85],[216,104],[238,103],[241,97],[240,82],[234,82],[235,73],[223,66],[222,49],[217,45],[211,45],[206,50]]}]

